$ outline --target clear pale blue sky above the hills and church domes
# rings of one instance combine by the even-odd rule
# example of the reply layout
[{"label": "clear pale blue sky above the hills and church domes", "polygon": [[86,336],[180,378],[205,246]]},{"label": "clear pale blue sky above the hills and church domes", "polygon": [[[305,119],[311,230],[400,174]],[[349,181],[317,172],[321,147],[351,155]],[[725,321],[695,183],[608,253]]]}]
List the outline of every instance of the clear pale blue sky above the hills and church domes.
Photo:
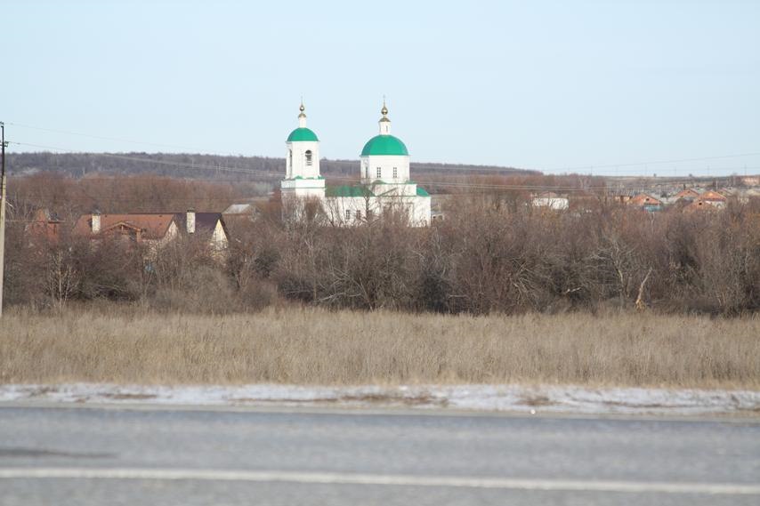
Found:
[{"label": "clear pale blue sky above the hills and church domes", "polygon": [[357,159],[386,97],[413,162],[760,173],[754,0],[0,0],[0,12],[11,151],[284,157],[303,96],[321,156]]}]

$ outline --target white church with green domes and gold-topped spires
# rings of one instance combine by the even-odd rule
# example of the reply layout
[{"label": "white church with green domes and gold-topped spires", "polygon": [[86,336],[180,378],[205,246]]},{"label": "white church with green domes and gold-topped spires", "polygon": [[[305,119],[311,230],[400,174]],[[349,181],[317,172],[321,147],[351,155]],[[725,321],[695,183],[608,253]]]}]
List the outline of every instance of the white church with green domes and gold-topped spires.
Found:
[{"label": "white church with green domes and gold-topped spires", "polygon": [[394,215],[409,225],[430,223],[430,194],[412,181],[409,152],[391,135],[388,108],[380,111],[380,133],[361,150],[359,183],[327,186],[319,173],[319,138],[306,127],[303,103],[298,128],[287,136],[285,179],[280,183],[286,220],[319,214],[328,223],[355,226]]}]

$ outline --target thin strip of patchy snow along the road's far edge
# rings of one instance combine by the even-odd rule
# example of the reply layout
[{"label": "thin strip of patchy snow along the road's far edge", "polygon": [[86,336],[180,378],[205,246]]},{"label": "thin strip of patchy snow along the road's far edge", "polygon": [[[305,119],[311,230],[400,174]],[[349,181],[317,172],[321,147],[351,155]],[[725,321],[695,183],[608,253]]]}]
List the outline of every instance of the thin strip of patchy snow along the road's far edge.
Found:
[{"label": "thin strip of patchy snow along the road's far edge", "polygon": [[405,406],[567,414],[760,414],[760,391],[752,390],[594,389],[522,385],[0,385],[0,403],[35,401],[174,406]]}]

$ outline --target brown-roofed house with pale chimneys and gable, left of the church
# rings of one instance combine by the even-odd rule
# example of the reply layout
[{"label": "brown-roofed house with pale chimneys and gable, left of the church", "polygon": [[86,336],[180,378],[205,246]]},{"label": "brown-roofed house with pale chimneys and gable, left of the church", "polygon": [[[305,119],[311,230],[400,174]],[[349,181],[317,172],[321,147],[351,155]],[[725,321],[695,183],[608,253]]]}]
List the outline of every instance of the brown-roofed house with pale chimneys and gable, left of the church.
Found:
[{"label": "brown-roofed house with pale chimneys and gable, left of the church", "polygon": [[74,235],[92,240],[103,237],[129,239],[156,251],[180,236],[207,237],[214,250],[224,250],[229,235],[221,213],[125,213],[94,212],[79,217]]}]

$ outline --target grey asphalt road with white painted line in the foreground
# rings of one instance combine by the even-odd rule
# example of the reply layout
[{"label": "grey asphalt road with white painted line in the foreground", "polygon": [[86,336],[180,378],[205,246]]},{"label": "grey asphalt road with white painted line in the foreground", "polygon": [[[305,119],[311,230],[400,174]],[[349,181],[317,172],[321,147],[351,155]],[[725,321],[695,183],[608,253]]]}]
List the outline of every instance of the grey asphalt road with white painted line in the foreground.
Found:
[{"label": "grey asphalt road with white painted line in the foreground", "polygon": [[0,504],[760,504],[760,422],[0,407]]}]

